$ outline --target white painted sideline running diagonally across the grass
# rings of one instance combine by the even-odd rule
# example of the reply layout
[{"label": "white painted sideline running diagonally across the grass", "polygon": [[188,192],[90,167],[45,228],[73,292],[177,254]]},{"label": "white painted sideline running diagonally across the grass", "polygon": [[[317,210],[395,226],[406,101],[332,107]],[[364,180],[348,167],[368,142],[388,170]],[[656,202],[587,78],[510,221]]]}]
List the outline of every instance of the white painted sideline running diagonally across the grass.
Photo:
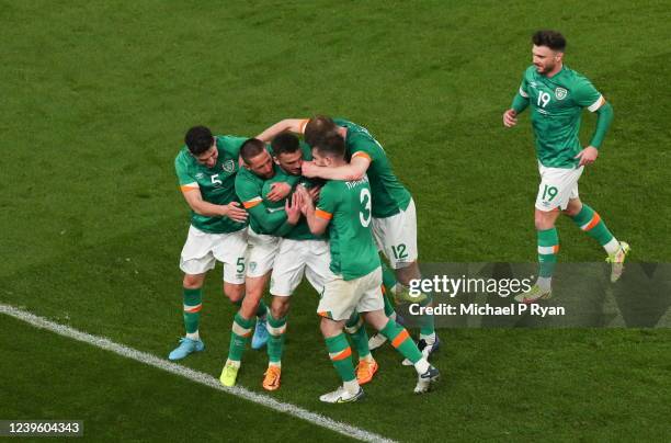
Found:
[{"label": "white painted sideline running diagonally across the grass", "polygon": [[[10,317],[14,317],[21,321],[25,321],[26,323],[30,323],[36,328],[47,329],[60,336],[68,337],[70,339],[75,339],[78,341],[82,341],[84,343],[92,344],[96,348],[104,349],[106,351],[112,351],[115,354],[125,356],[127,359],[135,360],[140,363],[145,363],[149,366],[158,367],[159,370],[163,370],[169,373],[182,376],[184,378],[189,378],[192,382],[196,382],[202,385],[209,386],[213,389],[223,390],[234,396],[241,397],[246,400],[255,402],[266,408],[274,409],[280,412],[288,413],[289,416],[294,416],[302,420],[309,421],[312,424],[316,424],[321,428],[330,429],[331,431],[339,432],[343,435],[348,435],[348,436],[351,436],[351,438],[354,438],[354,439],[357,439],[364,442],[394,443],[394,440],[389,440],[387,438],[375,434],[373,432],[365,431],[363,429],[353,427],[351,424],[345,424],[345,423],[341,423],[336,420],[331,420],[328,417],[323,417],[316,412],[310,412],[296,405],[278,401],[272,397],[253,393],[240,386],[235,386],[232,388],[225,387],[219,383],[218,378],[215,378],[209,374],[205,374],[200,371],[194,371],[189,367],[185,367],[185,366],[182,366],[175,363],[171,363],[156,355],[148,354],[146,352],[141,352],[133,348],[128,348],[123,344],[115,343],[103,337],[91,336],[90,333],[78,331],[77,329],[70,328],[69,326],[56,323],[54,321],[47,320],[44,317],[38,317],[34,314],[31,314],[23,309],[15,308],[13,306],[0,304],[0,313],[5,314]],[[336,406],[336,407],[339,407],[339,406]]]}]

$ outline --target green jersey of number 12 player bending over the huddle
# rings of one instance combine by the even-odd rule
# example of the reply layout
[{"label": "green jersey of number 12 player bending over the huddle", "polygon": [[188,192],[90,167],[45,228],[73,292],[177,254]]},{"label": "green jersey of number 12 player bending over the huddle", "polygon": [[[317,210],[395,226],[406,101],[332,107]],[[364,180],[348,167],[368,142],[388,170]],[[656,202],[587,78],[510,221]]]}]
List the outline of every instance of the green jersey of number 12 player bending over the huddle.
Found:
[{"label": "green jersey of number 12 player bending over the huddle", "polygon": [[410,204],[410,193],[394,174],[382,145],[363,126],[343,118],[333,118],[333,122],[348,128],[348,157],[365,156],[371,160],[366,174],[373,193],[373,217],[390,217],[405,211]]}]

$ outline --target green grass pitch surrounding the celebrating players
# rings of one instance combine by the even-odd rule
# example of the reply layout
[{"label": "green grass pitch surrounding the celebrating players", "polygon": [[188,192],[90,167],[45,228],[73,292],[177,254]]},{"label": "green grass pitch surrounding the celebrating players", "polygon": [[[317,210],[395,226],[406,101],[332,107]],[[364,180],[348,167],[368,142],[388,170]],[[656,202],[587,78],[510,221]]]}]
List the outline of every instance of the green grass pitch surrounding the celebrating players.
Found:
[{"label": "green grass pitch surrounding the celebrating players", "polygon": [[[167,355],[182,333],[187,211],[173,159],[187,127],[252,136],[289,116],[348,117],[383,143],[418,207],[420,259],[535,261],[528,116],[501,114],[555,27],[566,64],[615,122],[581,196],[634,248],[669,260],[671,92],[666,1],[0,1],[0,303]],[[583,140],[593,128],[583,117]],[[599,261],[562,220],[560,261]],[[218,374],[232,307],[205,287]],[[367,399],[337,384],[302,286],[277,399],[400,441],[647,440],[671,433],[669,330],[443,330],[440,388],[389,349]],[[86,421],[86,440],[341,436],[0,317],[0,419]],[[239,383],[262,391],[264,353]],[[141,418],[141,419],[140,419]],[[189,425],[193,431],[185,431]]]}]

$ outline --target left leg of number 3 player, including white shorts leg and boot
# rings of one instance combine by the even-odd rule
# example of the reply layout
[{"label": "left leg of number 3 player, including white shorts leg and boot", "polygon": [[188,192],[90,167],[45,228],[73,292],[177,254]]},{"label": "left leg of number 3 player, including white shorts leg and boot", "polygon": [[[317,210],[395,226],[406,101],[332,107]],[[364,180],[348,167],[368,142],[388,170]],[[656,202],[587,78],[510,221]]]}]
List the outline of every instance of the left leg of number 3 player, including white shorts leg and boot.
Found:
[{"label": "left leg of number 3 player, including white shorts leg and boot", "polygon": [[344,281],[336,276],[327,282],[319,299],[317,314],[321,317],[321,333],[331,363],[342,380],[338,389],[319,397],[325,402],[349,402],[363,397],[363,389],[359,386],[352,364],[352,349],[343,333],[345,320],[352,316],[361,297],[361,292],[357,292],[360,280]]}]

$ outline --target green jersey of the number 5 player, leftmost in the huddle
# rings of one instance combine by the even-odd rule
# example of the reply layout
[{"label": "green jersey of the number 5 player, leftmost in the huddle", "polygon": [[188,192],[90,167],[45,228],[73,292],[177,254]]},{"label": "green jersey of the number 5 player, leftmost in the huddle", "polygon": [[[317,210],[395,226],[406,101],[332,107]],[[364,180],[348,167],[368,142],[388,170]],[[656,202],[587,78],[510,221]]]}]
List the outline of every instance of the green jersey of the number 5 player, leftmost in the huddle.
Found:
[{"label": "green jersey of the number 5 player, leftmost in the huddle", "polygon": [[[174,169],[182,189],[197,188],[205,202],[227,205],[239,202],[235,191],[235,177],[238,172],[238,155],[244,137],[215,136],[218,157],[213,168],[197,162],[184,146],[174,159]],[[191,211],[191,224],[205,232],[223,234],[242,229],[246,224],[228,217],[208,217]]]}]

